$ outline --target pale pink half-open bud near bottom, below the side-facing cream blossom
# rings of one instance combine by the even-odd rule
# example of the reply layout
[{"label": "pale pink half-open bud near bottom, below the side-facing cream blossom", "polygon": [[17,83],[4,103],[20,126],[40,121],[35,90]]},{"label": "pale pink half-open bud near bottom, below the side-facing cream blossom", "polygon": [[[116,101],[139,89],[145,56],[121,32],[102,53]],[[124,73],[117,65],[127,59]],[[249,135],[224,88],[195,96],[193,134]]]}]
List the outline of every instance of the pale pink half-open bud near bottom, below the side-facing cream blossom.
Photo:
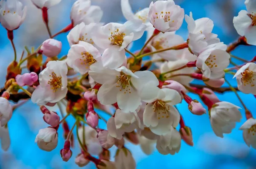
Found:
[{"label": "pale pink half-open bud near bottom, below the side-facing cream blossom", "polygon": [[97,135],[99,143],[105,149],[110,149],[115,144],[115,138],[108,134],[107,130],[100,131]]}]

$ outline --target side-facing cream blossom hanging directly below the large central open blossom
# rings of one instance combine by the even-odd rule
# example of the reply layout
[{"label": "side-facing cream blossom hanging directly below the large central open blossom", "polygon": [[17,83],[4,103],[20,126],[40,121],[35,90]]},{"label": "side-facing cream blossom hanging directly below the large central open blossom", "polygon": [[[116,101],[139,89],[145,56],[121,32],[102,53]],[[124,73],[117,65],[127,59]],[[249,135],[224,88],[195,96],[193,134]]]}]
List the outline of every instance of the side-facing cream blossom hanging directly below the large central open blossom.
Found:
[{"label": "side-facing cream blossom hanging directly below the large central open blossom", "polygon": [[124,113],[120,109],[116,110],[115,117],[108,120],[108,133],[114,138],[122,139],[125,132],[132,132],[139,128],[140,119],[137,113]]}]

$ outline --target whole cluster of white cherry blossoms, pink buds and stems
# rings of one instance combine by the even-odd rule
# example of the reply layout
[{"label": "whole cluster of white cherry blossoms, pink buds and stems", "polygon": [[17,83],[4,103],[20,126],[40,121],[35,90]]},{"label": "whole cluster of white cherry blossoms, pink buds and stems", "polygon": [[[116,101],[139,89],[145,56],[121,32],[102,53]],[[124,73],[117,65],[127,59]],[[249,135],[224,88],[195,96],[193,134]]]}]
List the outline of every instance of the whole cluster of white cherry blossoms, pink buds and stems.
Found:
[{"label": "whole cluster of white cherry blossoms, pink buds and stems", "polygon": [[[71,9],[70,25],[52,35],[47,10],[60,1],[32,0],[42,10],[50,38],[36,51],[28,49],[26,58],[19,62],[16,61],[13,31],[23,23],[26,7],[18,0],[0,2],[0,23],[6,28],[15,52],[0,97],[0,141],[4,150],[10,145],[7,123],[13,107],[9,100],[31,99],[40,107],[43,120],[50,125],[39,130],[35,138],[40,149],[55,149],[58,130],[62,127],[65,144],[60,154],[63,161],[69,161],[76,128],[76,141],[81,149],[75,160],[78,166],[92,161],[98,169],[135,169],[126,140],[140,144],[148,155],[154,146],[163,155],[175,155],[180,151],[181,140],[194,145],[193,129],[185,125],[177,109],[183,100],[194,115],[205,115],[208,110],[213,132],[223,138],[241,121],[241,108],[221,101],[215,92],[231,90],[239,97],[240,90],[256,95],[256,58],[247,61],[236,57],[244,64],[228,68],[233,64],[230,52],[236,46],[256,45],[254,0],[246,0],[247,11],[242,10],[234,17],[234,26],[242,37],[230,45],[225,45],[212,33],[212,20],[194,20],[192,12],[185,15],[184,9],[173,0],[152,2],[135,14],[129,1],[121,0],[123,15],[128,20],[123,24],[100,23],[103,15],[100,7],[92,6],[90,0],[77,0]],[[188,29],[186,40],[175,34],[184,18]],[[54,38],[67,31],[70,49],[59,58],[62,43]],[[129,51],[132,42],[145,32],[148,38],[141,50]],[[45,62],[43,56],[47,57]],[[145,56],[150,59],[145,60]],[[29,73],[21,73],[23,62],[27,62]],[[229,83],[226,73],[234,75],[238,88]],[[194,79],[205,85],[192,85]],[[230,87],[221,87],[225,81]],[[198,95],[201,101],[192,99],[189,92]],[[67,113],[61,111],[62,119],[46,107],[55,104],[66,107]],[[242,100],[241,104],[247,118],[240,128],[244,141],[256,148],[256,120]],[[110,118],[106,120],[102,113]],[[68,116],[76,120],[71,128],[66,121]],[[99,121],[104,121],[107,127],[99,128]],[[118,148],[114,162],[110,161],[112,146]]]}]

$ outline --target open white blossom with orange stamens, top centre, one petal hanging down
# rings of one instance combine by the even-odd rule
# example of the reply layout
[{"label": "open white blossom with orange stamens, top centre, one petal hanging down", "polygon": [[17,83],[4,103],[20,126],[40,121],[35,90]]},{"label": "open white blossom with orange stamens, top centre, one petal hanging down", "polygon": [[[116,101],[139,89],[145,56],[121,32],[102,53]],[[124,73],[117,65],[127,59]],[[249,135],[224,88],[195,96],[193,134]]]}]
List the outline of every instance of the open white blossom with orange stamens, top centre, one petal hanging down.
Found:
[{"label": "open white blossom with orange stamens, top centre, one petal hanging down", "polygon": [[94,31],[93,42],[105,49],[102,63],[105,68],[115,69],[126,59],[125,48],[134,40],[140,39],[146,26],[141,20],[129,20],[124,24],[108,23]]}]

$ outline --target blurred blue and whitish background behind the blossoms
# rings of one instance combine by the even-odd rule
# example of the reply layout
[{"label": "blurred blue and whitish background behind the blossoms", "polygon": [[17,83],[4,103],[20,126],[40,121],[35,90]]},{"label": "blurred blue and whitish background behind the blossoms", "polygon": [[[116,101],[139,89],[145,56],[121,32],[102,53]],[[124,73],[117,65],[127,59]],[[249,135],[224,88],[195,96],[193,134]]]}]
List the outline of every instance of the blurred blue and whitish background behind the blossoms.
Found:
[{"label": "blurred blue and whitish background behind the blossoms", "polygon": [[[21,55],[24,45],[29,47],[41,44],[48,38],[47,29],[41,19],[41,11],[32,5],[30,0],[21,0],[28,6],[26,20],[19,29],[14,31],[14,42],[17,47],[18,56]],[[70,23],[70,10],[75,0],[62,0],[57,6],[49,9],[49,26],[53,34],[64,28]],[[120,0],[92,0],[94,5],[101,6],[104,11],[102,22],[125,22],[122,16]],[[133,11],[148,7],[151,0],[130,0]],[[244,0],[175,0],[175,3],[185,9],[185,14],[193,13],[194,19],[209,17],[213,20],[215,26],[213,33],[225,44],[235,41],[239,36],[233,27],[233,17],[238,12],[245,9]],[[177,34],[187,39],[187,24],[184,21]],[[61,34],[56,39],[63,44],[61,54],[67,54],[69,45],[66,38],[67,34]],[[140,49],[145,42],[143,38],[134,42],[131,51]],[[233,55],[244,59],[251,59],[256,55],[255,46],[239,46]],[[12,46],[7,39],[6,30],[0,26],[0,82],[3,87],[6,76],[6,68],[13,59]],[[237,62],[239,63],[239,62]],[[23,72],[25,73],[25,72]],[[227,76],[232,85],[236,86],[236,81],[232,76]],[[194,82],[198,83],[198,82]],[[226,84],[225,84],[226,85]],[[224,85],[224,86],[225,86]],[[227,86],[227,85],[226,85]],[[255,98],[253,95],[239,93],[246,106],[251,110],[254,116],[256,113]],[[197,96],[191,95],[194,99]],[[230,101],[233,104],[242,107],[234,93],[227,92],[218,94],[222,101]],[[208,115],[195,116],[187,109],[187,104],[183,102],[178,104],[178,109],[183,115],[187,126],[191,127],[194,146],[188,146],[182,141],[180,152],[176,155],[161,155],[155,149],[153,155],[145,155],[140,146],[128,144],[137,162],[137,169],[256,169],[255,156],[256,150],[249,148],[243,141],[242,131],[238,130],[241,124],[238,123],[236,129],[224,138],[218,138],[213,133]],[[56,109],[58,112],[58,110]],[[7,152],[0,150],[0,169],[78,169],[74,163],[76,155],[79,153],[76,144],[73,151],[73,157],[68,162],[63,162],[59,154],[64,145],[63,131],[58,130],[58,146],[52,152],[44,152],[35,144],[35,136],[38,130],[47,127],[42,119],[43,114],[39,107],[30,101],[21,106],[9,121],[9,132],[11,137],[11,146]],[[68,123],[73,124],[72,117],[67,118]],[[103,124],[101,124],[103,125]],[[115,155],[115,149],[111,151],[111,156]],[[84,167],[85,169],[95,169],[93,163]]]}]

